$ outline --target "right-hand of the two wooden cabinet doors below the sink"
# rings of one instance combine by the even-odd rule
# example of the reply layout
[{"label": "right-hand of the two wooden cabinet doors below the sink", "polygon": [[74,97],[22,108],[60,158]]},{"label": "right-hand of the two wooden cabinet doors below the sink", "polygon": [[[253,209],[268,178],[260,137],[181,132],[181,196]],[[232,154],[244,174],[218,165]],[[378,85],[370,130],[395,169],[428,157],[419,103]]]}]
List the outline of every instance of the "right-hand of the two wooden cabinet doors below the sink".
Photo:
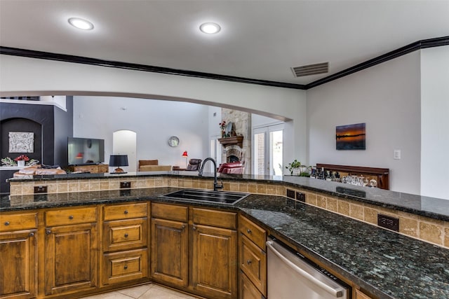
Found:
[{"label": "right-hand of the two wooden cabinet doors below the sink", "polygon": [[193,225],[192,286],[208,298],[237,298],[237,232]]}]

